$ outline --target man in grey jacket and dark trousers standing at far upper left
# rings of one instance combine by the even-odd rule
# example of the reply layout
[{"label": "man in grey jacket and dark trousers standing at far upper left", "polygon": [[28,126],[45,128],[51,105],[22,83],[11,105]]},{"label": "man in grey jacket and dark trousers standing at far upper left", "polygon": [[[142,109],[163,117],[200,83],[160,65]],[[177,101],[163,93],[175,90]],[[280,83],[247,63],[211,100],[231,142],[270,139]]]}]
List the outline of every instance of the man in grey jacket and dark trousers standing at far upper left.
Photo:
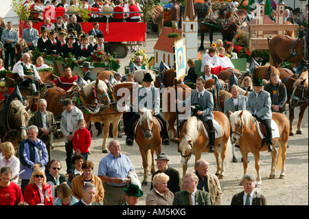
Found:
[{"label": "man in grey jacket and dark trousers standing at far upper left", "polygon": [[13,23],[8,21],[8,29],[3,30],[1,41],[4,43],[5,59],[4,59],[4,68],[9,70],[9,60],[11,70],[14,67],[14,58],[15,58],[15,44],[19,41],[19,36],[16,30],[13,30]]}]

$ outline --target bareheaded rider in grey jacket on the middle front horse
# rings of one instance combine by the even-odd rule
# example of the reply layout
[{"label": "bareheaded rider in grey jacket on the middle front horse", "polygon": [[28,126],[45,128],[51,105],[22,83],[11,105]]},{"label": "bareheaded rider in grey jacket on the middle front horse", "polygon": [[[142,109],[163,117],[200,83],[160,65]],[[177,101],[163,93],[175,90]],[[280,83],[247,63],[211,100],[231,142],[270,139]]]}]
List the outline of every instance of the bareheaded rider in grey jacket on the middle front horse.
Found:
[{"label": "bareheaded rider in grey jacket on the middle front horse", "polygon": [[197,111],[197,115],[200,115],[201,119],[207,123],[209,128],[209,152],[213,153],[215,144],[215,131],[214,124],[212,122],[212,119],[214,119],[214,99],[212,97],[212,93],[207,91],[204,87],[204,78],[197,78],[196,89],[192,90],[191,96],[184,101],[176,100],[176,103],[181,104],[182,106],[192,104],[201,105],[203,111]]}]

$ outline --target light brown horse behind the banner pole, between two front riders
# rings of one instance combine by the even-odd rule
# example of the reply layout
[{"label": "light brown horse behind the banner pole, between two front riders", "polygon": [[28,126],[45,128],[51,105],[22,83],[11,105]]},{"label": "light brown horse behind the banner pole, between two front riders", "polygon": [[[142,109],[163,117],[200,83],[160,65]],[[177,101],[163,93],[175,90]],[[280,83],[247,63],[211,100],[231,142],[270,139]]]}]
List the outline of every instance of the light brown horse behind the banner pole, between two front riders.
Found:
[{"label": "light brown horse behind the banner pole, between two front riders", "polygon": [[[179,100],[186,100],[191,95],[192,89],[185,84],[177,84],[177,98]],[[176,104],[174,100],[176,99],[175,87],[168,87],[162,95],[162,108],[163,117],[168,123],[168,136],[170,139],[175,139],[177,137],[176,129],[174,124],[176,122]],[[179,107],[180,108],[180,107]],[[190,110],[190,108],[185,108],[183,111],[179,111],[180,115],[184,115]],[[187,114],[186,114],[187,115]]]}]

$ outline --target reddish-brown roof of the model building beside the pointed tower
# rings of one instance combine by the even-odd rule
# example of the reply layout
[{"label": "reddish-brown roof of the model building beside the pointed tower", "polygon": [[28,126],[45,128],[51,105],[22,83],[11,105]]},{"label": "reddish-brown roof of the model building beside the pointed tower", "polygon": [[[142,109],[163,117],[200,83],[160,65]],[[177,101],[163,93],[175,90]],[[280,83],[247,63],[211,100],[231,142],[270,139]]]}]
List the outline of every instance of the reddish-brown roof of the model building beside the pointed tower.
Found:
[{"label": "reddish-brown roof of the model building beside the pointed tower", "polygon": [[[168,52],[174,52],[173,51],[173,38],[168,38],[168,34],[172,34],[173,30],[171,27],[164,27],[162,30],[161,35],[158,38],[158,41],[153,47],[153,49],[159,49],[163,51],[168,51]],[[175,29],[175,32],[181,36],[181,30],[180,29]],[[178,40],[179,38],[176,38]]]}]

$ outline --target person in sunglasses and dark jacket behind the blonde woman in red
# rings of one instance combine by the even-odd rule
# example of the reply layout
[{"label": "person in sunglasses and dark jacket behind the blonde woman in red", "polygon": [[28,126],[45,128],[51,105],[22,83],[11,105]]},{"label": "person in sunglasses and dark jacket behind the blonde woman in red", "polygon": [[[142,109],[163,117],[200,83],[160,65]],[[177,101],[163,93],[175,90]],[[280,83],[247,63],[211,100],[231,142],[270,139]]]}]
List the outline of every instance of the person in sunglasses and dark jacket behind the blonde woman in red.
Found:
[{"label": "person in sunglasses and dark jacket behind the blonde woman in red", "polygon": [[61,168],[62,166],[60,161],[56,159],[50,161],[47,166],[47,170],[45,171],[46,181],[55,188],[57,185],[60,185],[60,183],[68,183],[69,187],[72,187],[71,183],[65,179],[65,175],[60,174]]}]

